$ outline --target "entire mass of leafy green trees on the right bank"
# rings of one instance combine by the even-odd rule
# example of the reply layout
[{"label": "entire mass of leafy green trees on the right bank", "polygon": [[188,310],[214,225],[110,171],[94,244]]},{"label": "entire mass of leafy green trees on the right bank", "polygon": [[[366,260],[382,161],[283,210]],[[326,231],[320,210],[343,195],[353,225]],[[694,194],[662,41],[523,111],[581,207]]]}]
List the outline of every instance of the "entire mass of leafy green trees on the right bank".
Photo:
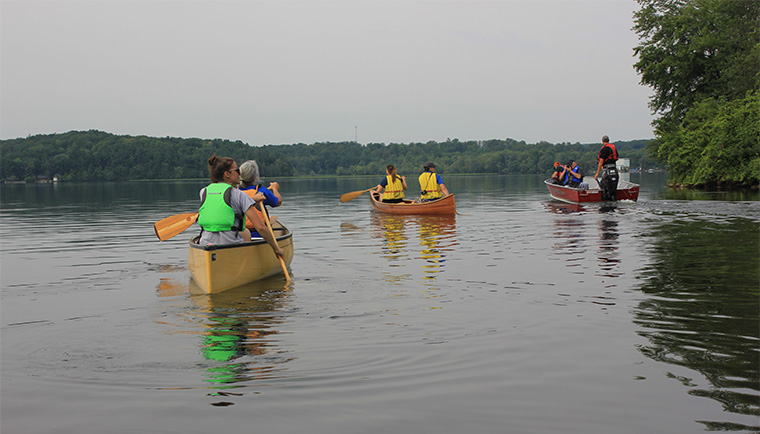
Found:
[{"label": "entire mass of leafy green trees on the right bank", "polygon": [[653,156],[674,183],[757,185],[760,2],[638,3],[634,68],[654,89]]}]

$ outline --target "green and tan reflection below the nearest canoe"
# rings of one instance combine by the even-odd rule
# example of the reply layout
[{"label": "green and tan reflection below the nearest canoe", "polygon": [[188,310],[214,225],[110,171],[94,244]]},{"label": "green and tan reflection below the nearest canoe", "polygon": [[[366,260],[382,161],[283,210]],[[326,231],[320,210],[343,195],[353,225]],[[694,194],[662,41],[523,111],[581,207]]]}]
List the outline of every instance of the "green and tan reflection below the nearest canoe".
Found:
[{"label": "green and tan reflection below the nearest canoe", "polygon": [[[273,277],[253,282],[218,294],[207,295],[190,279],[184,288],[162,280],[161,297],[189,290],[192,308],[178,318],[181,326],[201,337],[200,353],[211,362],[204,382],[213,389],[208,396],[241,396],[233,389],[251,387],[251,382],[281,378],[284,365],[294,358],[278,346],[278,326],[286,320],[291,293],[282,289],[282,279]],[[233,405],[214,402],[212,405]]]}]

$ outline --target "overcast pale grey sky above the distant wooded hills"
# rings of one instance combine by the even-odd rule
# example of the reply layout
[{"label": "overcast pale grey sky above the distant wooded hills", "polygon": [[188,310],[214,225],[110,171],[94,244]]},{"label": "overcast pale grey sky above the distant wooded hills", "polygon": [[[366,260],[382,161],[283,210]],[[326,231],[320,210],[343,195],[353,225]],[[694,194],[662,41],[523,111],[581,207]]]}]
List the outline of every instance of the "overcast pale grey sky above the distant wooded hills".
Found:
[{"label": "overcast pale grey sky above the distant wooded hills", "polygon": [[653,137],[634,0],[0,2],[0,138]]}]

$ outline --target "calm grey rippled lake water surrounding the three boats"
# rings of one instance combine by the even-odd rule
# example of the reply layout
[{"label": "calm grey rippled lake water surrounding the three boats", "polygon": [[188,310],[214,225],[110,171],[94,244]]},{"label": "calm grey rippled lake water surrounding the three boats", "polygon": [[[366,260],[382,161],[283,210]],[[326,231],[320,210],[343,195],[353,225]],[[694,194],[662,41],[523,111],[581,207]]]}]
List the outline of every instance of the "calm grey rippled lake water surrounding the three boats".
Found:
[{"label": "calm grey rippled lake water surrounding the three boats", "polygon": [[280,180],[282,275],[193,295],[153,223],[206,183],[3,185],[0,399],[15,433],[760,430],[760,201],[554,202],[444,177],[455,217],[370,211],[376,178]]}]

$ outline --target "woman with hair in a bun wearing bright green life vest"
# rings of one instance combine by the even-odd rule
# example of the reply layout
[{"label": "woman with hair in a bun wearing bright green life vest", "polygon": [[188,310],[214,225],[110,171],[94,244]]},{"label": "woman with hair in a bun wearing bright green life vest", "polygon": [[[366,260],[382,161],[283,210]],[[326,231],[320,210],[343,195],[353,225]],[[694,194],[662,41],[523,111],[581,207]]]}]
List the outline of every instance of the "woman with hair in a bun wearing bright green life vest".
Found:
[{"label": "woman with hair in a bun wearing bright green life vest", "polygon": [[201,237],[199,244],[231,244],[251,241],[251,232],[245,227],[246,217],[253,227],[272,247],[278,256],[284,252],[267,230],[264,221],[256,214],[254,200],[235,188],[240,184],[240,168],[229,157],[208,159],[211,184],[200,191],[201,207],[198,210],[198,224]]}]

